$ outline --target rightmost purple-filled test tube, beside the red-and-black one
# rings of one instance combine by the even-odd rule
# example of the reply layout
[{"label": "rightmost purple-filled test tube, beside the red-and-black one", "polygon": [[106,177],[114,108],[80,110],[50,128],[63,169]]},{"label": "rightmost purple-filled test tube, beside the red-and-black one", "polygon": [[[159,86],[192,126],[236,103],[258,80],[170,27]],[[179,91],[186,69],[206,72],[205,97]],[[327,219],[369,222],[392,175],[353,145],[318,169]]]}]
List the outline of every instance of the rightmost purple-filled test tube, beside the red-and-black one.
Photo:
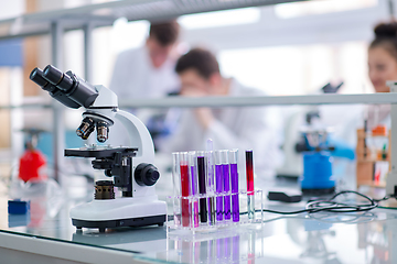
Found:
[{"label": "rightmost purple-filled test tube, beside the red-and-black one", "polygon": [[238,205],[238,150],[229,152],[230,161],[230,182],[232,182],[232,215],[233,221],[239,221],[239,205]]}]

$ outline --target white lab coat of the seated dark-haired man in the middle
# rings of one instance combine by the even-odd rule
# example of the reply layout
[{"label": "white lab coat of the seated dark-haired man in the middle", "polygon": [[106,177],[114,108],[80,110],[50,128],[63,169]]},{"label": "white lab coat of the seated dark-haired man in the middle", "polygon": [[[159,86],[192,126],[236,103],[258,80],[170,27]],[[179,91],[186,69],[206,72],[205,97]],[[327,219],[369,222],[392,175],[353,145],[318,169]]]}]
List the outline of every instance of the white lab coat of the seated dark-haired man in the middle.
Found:
[{"label": "white lab coat of the seated dark-haired man in the middle", "polygon": [[[233,79],[229,96],[265,96],[265,92],[244,87]],[[207,139],[212,139],[214,150],[239,150],[240,170],[245,170],[245,151],[253,150],[256,172],[275,175],[280,158],[280,141],[277,134],[279,128],[277,122],[273,122],[278,120],[276,109],[235,107],[212,111],[216,121],[205,131],[198,123],[194,109],[184,110],[179,129],[163,143],[161,151],[171,154],[176,151],[205,150]]]}]

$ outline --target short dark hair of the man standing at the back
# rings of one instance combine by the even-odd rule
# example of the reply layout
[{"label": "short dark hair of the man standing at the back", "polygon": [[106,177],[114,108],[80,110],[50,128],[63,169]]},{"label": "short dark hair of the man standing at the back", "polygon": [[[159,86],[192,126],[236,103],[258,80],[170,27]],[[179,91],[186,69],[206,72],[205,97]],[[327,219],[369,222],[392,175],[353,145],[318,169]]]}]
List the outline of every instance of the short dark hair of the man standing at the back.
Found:
[{"label": "short dark hair of the man standing at the back", "polygon": [[176,20],[151,23],[149,29],[149,37],[153,37],[162,46],[172,45],[178,41],[180,25]]}]

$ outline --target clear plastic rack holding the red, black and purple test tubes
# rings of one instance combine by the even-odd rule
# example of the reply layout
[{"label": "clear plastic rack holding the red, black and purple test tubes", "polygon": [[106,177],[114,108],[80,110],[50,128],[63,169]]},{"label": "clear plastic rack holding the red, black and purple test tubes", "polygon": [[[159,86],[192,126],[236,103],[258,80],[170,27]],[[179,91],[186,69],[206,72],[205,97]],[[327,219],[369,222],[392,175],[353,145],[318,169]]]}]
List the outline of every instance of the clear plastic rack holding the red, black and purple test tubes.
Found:
[{"label": "clear plastic rack holding the red, black and purple test tubes", "polygon": [[[226,212],[222,208],[218,208],[217,202],[214,202],[215,208],[211,212],[211,202],[212,200],[222,200],[225,201],[230,199],[233,196],[238,197],[238,221],[233,219],[234,211]],[[207,208],[210,210],[205,213],[208,213],[206,222],[200,221],[200,216],[195,206],[201,199],[205,199],[207,202]],[[248,201],[254,204],[253,215],[248,213]],[[235,228],[236,226],[242,224],[251,224],[251,223],[262,223],[264,222],[264,196],[262,190],[256,189],[254,191],[238,191],[238,193],[224,193],[224,194],[214,194],[214,195],[196,195],[196,196],[169,196],[167,197],[168,202],[168,219],[167,219],[167,232],[174,230],[185,230],[191,232],[196,231],[215,231],[218,229]],[[183,205],[189,205],[189,211],[183,212]],[[171,211],[172,210],[172,211]],[[202,212],[200,212],[202,213]],[[212,216],[215,213],[217,216]],[[221,213],[221,216],[219,216]],[[230,216],[228,216],[228,213]],[[172,217],[171,217],[172,216]],[[222,220],[219,220],[222,219]]]}]

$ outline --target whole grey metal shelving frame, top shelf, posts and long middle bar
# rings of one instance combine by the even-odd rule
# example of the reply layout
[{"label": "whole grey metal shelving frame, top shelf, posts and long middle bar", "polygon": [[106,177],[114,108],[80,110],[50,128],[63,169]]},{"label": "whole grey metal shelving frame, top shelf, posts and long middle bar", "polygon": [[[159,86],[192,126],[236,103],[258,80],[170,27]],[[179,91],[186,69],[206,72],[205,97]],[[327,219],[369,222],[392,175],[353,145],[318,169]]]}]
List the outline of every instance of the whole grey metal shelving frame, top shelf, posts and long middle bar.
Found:
[{"label": "whole grey metal shelving frame, top shelf, posts and long middle bar", "polygon": [[[124,0],[72,9],[54,10],[24,14],[0,21],[0,41],[12,37],[28,37],[50,34],[52,40],[52,64],[62,68],[62,36],[72,30],[84,31],[85,78],[90,80],[92,70],[92,32],[96,28],[110,26],[118,18],[128,21],[161,21],[183,14],[270,6],[300,0]],[[245,107],[245,106],[286,106],[286,105],[341,105],[341,103],[391,103],[391,113],[397,112],[397,90],[387,95],[323,95],[288,97],[213,97],[213,98],[165,98],[165,99],[120,99],[119,106],[136,108],[169,107]],[[58,172],[64,148],[63,106],[53,101],[51,105],[29,105],[20,107],[44,107],[54,111],[54,172]],[[1,109],[13,109],[3,106]],[[391,139],[397,138],[397,114],[391,114]],[[391,141],[391,174],[388,177],[388,190],[397,186],[397,143]],[[57,177],[57,175],[55,175]]]}]

